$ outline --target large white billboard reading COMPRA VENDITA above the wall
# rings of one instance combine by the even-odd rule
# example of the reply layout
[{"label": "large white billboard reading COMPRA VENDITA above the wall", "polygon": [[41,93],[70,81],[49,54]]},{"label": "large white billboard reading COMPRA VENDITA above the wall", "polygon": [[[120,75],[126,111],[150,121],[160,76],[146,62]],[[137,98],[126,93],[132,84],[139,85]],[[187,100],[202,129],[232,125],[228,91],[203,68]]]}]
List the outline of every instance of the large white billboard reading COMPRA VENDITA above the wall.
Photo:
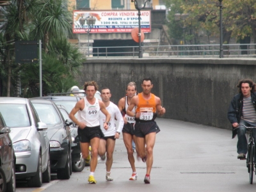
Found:
[{"label": "large white billboard reading COMPRA VENDITA above the wall", "polygon": [[[73,33],[87,33],[86,17],[95,18],[90,33],[131,33],[133,28],[139,27],[137,10],[79,10],[73,12]],[[141,31],[151,32],[150,10],[141,10],[140,24]]]}]

